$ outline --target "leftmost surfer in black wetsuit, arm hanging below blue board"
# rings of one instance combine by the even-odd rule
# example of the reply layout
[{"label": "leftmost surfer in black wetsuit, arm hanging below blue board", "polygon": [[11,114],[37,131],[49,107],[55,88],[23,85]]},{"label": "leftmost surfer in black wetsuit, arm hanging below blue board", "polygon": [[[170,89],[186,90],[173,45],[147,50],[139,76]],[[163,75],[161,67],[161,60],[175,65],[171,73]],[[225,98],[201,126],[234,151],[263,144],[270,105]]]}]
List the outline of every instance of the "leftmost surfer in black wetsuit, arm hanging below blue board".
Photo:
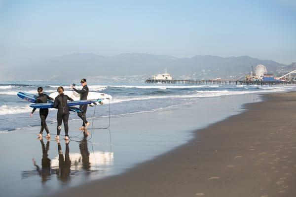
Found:
[{"label": "leftmost surfer in black wetsuit, arm hanging below blue board", "polygon": [[[39,96],[36,99],[36,103],[47,103],[47,99],[53,100],[48,95],[43,94],[43,88],[42,87],[38,87],[37,92],[38,92]],[[35,112],[35,110],[36,110],[36,108],[34,108],[32,110],[32,112],[30,113],[30,117],[33,116],[33,113]],[[46,117],[48,115],[48,109],[39,109],[39,115],[40,115],[40,119],[41,119],[41,128],[40,128],[39,134],[37,134],[37,135],[41,139],[43,130],[45,129],[45,131],[47,132],[47,135],[45,137],[50,138],[50,133],[49,133],[48,127],[46,125],[46,121],[45,121]]]}]

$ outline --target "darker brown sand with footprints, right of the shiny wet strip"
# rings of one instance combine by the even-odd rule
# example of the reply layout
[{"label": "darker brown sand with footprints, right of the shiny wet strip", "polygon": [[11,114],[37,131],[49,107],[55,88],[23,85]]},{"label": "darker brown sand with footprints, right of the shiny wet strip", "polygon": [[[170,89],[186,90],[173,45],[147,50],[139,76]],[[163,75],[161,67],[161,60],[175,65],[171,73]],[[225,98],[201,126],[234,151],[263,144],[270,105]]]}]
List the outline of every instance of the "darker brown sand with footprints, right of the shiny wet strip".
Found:
[{"label": "darker brown sand with footprints, right of the shiny wet strip", "polygon": [[246,107],[154,160],[55,196],[295,197],[296,93]]}]

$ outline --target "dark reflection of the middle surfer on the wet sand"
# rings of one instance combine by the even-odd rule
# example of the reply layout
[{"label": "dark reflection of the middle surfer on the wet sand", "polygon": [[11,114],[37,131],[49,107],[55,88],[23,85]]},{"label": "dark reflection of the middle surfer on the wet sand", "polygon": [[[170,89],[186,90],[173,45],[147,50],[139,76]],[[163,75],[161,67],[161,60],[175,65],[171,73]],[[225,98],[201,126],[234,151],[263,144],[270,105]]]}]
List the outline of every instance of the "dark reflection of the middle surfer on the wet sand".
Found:
[{"label": "dark reflection of the middle surfer on the wet sand", "polygon": [[69,156],[69,143],[66,143],[66,152],[65,152],[65,160],[63,151],[61,148],[61,144],[58,140],[58,151],[59,151],[59,173],[58,178],[62,180],[63,182],[67,182],[70,178],[70,172],[71,172],[71,160]]}]

